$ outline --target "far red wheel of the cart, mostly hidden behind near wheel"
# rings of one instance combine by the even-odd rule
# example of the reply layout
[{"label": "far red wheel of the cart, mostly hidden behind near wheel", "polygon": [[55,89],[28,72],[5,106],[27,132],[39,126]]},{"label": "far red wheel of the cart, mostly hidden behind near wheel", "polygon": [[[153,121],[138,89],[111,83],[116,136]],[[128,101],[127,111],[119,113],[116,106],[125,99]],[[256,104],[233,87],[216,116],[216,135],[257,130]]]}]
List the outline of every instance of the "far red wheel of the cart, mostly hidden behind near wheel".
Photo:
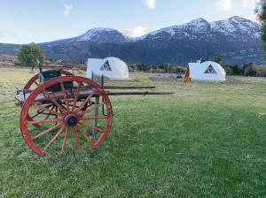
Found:
[{"label": "far red wheel of the cart, mostly hidden behind near wheel", "polygon": [[[60,73],[62,76],[70,76],[70,75],[73,75],[71,72],[67,72],[65,70],[60,70]],[[38,86],[40,85],[40,82],[39,82],[39,73],[35,74],[30,80],[27,81],[27,84],[24,86],[24,90],[34,90],[35,88],[37,88]],[[53,105],[51,105],[50,109],[54,109],[54,110],[57,110],[57,108]],[[37,116],[38,115],[38,112],[34,115],[34,116]],[[47,115],[47,118],[49,118],[50,116]],[[31,117],[28,117],[27,120],[29,121],[32,121],[33,118]],[[42,125],[34,125],[35,127],[39,127],[39,126],[42,126]]]}]

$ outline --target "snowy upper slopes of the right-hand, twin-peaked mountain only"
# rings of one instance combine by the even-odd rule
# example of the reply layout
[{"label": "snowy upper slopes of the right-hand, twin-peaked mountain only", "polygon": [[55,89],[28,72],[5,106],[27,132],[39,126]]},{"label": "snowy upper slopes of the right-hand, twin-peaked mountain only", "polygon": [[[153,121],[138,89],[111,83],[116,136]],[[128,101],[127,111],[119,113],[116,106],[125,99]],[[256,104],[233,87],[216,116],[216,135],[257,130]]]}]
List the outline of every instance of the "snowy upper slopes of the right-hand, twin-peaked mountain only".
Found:
[{"label": "snowy upper slopes of the right-hand, twin-peaked mountain only", "polygon": [[205,36],[212,36],[212,34],[232,35],[235,37],[253,37],[258,38],[261,26],[251,20],[243,19],[235,16],[230,19],[219,20],[215,22],[207,22],[206,19],[194,19],[189,23],[165,27],[160,30],[145,34],[136,40],[143,39],[158,39],[160,36],[182,36],[188,39],[198,39],[205,34]]}]

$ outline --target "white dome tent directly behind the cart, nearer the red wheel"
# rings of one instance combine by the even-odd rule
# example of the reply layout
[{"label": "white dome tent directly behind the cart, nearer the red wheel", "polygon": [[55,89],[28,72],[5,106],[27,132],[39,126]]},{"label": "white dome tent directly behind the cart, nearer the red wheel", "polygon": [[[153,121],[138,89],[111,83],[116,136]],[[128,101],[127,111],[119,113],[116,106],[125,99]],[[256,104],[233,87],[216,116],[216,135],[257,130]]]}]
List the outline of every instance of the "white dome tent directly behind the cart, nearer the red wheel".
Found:
[{"label": "white dome tent directly behind the cart, nearer the red wheel", "polygon": [[128,65],[117,57],[106,57],[105,59],[89,58],[86,77],[91,79],[92,72],[104,75],[111,80],[128,80]]}]

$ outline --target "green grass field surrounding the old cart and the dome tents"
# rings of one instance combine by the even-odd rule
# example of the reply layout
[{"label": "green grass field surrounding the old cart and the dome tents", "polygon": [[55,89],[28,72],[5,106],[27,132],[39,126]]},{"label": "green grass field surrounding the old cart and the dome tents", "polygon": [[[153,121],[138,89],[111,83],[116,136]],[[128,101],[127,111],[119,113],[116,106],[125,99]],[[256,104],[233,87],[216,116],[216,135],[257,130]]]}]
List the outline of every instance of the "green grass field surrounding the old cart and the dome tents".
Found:
[{"label": "green grass field surrounding the old cart and the dome tents", "polygon": [[124,84],[176,94],[112,97],[101,148],[39,157],[13,99],[31,75],[0,72],[0,197],[266,197],[265,78],[155,83],[133,73]]}]

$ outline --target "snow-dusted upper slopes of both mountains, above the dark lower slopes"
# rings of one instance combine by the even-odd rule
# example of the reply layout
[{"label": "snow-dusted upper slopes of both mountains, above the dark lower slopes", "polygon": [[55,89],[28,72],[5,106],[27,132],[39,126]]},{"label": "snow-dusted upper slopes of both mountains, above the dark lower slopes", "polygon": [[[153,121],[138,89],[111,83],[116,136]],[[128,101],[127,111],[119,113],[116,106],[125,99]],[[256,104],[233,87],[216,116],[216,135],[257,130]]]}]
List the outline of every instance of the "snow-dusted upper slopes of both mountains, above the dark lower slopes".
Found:
[{"label": "snow-dusted upper slopes of both mountains, above the dark lower slopes", "polygon": [[251,36],[258,37],[260,26],[248,19],[232,17],[230,19],[207,22],[206,19],[194,19],[189,23],[161,28],[157,31],[145,34],[137,38],[130,38],[121,32],[108,27],[96,27],[90,29],[85,34],[74,38],[59,40],[56,42],[47,42],[49,44],[61,44],[62,42],[97,42],[97,43],[121,43],[137,42],[145,39],[158,39],[160,37],[185,36],[188,39],[197,39],[202,34],[220,33],[224,35]]}]

